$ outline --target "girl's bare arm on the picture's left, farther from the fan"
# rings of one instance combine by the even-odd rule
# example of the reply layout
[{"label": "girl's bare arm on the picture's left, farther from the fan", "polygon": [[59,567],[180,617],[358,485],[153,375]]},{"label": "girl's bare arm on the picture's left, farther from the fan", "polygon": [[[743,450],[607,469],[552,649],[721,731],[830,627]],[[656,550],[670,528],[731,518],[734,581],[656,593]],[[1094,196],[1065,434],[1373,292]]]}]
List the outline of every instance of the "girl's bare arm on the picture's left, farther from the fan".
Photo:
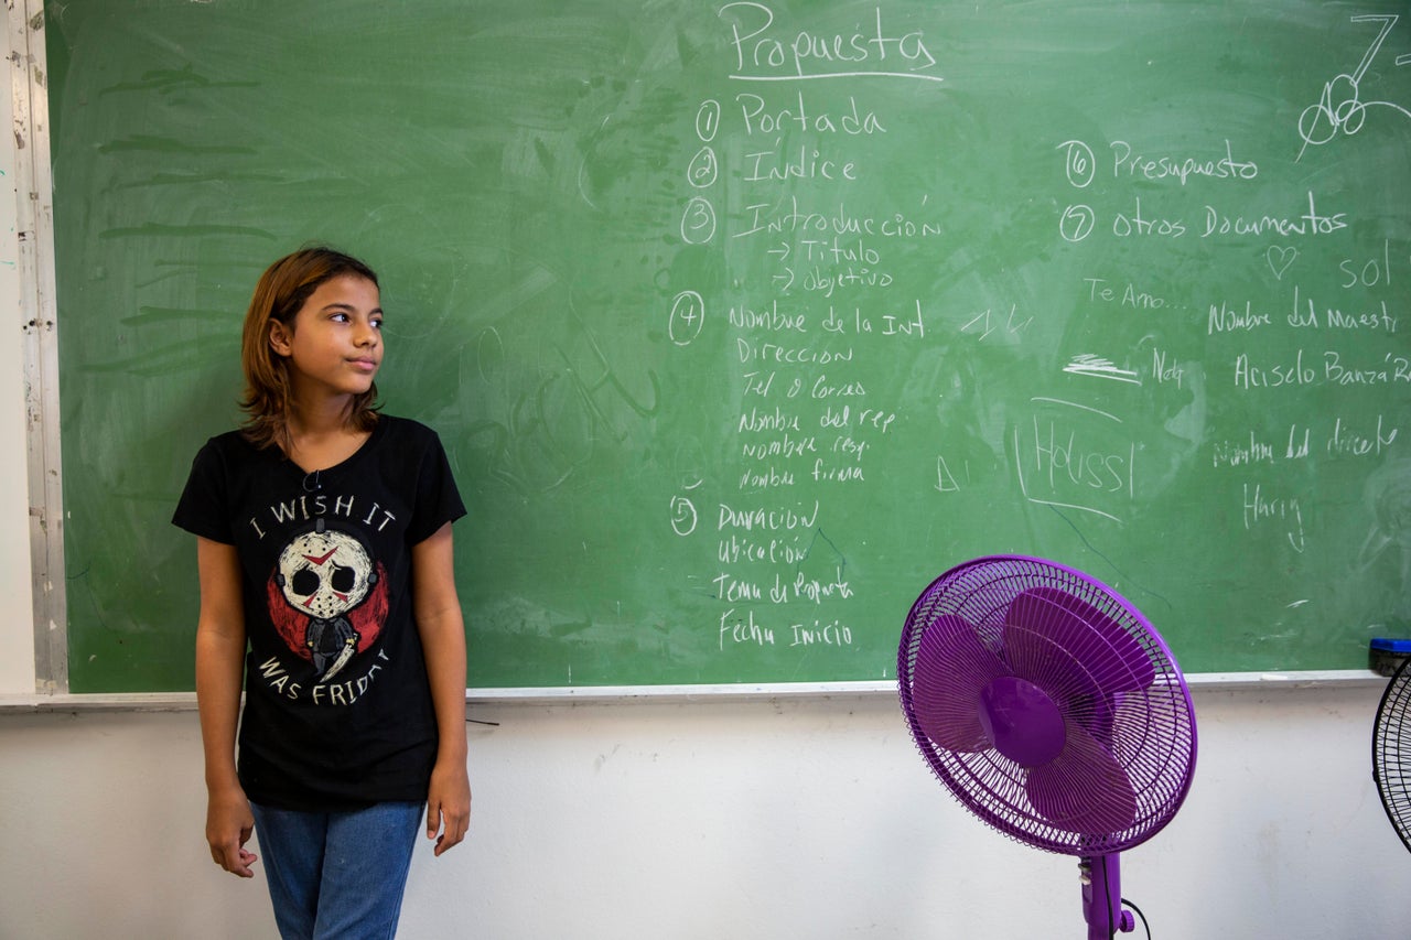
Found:
[{"label": "girl's bare arm on the picture's left, farther from the fan", "polygon": [[246,617],[240,559],[233,545],[196,539],[200,620],[196,624],[196,707],[206,754],[206,841],[216,864],[253,878],[254,852],[246,843],[254,816],[236,776],[236,727],[246,665]]}]

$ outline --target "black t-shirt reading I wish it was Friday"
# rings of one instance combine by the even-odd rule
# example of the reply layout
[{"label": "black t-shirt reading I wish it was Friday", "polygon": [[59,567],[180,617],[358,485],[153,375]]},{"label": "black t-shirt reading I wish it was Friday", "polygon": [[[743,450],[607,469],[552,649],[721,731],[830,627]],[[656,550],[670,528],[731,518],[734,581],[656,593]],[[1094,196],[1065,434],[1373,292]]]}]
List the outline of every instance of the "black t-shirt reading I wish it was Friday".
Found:
[{"label": "black t-shirt reading I wish it was Friday", "polygon": [[306,474],[240,432],[196,454],[172,521],[243,567],[240,782],[255,803],[340,810],[423,800],[436,716],[412,620],[412,546],[466,514],[446,452],[378,418],[351,457]]}]

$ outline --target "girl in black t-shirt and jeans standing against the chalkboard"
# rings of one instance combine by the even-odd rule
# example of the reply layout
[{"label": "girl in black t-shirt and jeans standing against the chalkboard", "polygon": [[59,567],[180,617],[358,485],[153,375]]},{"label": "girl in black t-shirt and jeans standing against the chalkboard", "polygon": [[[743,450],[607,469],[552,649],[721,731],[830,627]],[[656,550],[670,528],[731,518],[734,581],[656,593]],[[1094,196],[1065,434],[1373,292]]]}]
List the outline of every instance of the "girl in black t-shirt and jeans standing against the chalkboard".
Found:
[{"label": "girl in black t-shirt and jeans standing against the chalkboard", "polygon": [[174,518],[198,536],[206,841],[251,878],[258,833],[284,937],[392,937],[422,807],[436,855],[470,820],[466,510],[436,433],[375,408],[382,308],[361,261],[275,261],[241,361],[248,421],[200,449]]}]

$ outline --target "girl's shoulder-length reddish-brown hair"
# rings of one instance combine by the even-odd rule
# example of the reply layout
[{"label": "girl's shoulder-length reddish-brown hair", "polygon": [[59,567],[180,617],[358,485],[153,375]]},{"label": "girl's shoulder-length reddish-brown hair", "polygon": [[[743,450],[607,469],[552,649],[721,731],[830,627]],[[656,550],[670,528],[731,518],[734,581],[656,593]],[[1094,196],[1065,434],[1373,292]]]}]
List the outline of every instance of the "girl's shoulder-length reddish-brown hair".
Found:
[{"label": "girl's shoulder-length reddish-brown hair", "polygon": [[[243,426],[246,438],[257,447],[289,447],[289,364],[270,346],[270,323],[278,320],[291,332],[293,318],[319,285],[351,274],[377,287],[377,274],[357,258],[326,247],[301,248],[279,258],[260,275],[255,294],[246,312],[240,364],[246,370],[246,394],[240,406],[248,412]],[[371,430],[377,423],[377,384],[357,395],[346,421],[357,430]]]}]

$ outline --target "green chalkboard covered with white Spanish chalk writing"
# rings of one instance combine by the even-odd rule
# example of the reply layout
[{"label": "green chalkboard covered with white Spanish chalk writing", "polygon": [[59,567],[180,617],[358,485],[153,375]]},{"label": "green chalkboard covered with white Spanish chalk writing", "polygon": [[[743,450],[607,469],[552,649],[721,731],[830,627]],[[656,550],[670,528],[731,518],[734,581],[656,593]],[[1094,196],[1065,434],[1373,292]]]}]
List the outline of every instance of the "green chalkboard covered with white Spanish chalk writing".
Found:
[{"label": "green chalkboard covered with white Spanish chalk writing", "polygon": [[889,679],[1000,552],[1191,672],[1363,666],[1411,627],[1405,13],[49,4],[72,689],[190,687],[168,519],[308,241],[452,454],[476,687]]}]

